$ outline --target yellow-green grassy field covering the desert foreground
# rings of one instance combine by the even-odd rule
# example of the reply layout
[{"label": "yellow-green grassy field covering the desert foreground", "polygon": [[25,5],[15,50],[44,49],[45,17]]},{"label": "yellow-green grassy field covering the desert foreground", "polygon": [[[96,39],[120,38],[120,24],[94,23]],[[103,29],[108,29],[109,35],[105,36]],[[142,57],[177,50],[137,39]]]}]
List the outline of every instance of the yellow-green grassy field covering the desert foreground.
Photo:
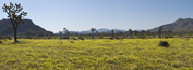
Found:
[{"label": "yellow-green grassy field covering the desert foreground", "polygon": [[[0,44],[0,70],[193,70],[193,39],[19,41]],[[158,46],[160,41],[170,46]]]}]

